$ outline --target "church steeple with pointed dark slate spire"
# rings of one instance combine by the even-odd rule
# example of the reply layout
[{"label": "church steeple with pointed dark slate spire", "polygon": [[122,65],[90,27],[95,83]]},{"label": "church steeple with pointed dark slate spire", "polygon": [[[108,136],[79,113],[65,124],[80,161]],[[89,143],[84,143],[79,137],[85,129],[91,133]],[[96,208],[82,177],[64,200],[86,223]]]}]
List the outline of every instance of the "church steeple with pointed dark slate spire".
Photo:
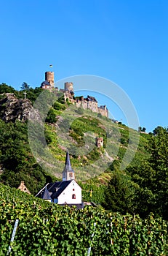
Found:
[{"label": "church steeple with pointed dark slate spire", "polygon": [[63,181],[71,181],[72,179],[75,179],[75,173],[71,167],[68,151],[66,152],[65,167],[62,173],[62,178],[63,178]]}]

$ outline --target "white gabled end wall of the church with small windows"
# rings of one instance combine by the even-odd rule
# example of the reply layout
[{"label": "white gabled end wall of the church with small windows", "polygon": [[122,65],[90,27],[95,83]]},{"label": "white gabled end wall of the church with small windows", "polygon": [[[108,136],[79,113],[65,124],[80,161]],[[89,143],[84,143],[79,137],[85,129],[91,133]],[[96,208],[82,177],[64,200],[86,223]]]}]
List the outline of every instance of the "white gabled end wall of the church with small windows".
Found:
[{"label": "white gabled end wall of the church with small windows", "polygon": [[[74,190],[73,190],[74,189]],[[72,195],[76,195],[76,199],[72,199]],[[76,183],[76,181],[71,181],[71,183],[68,185],[68,187],[65,188],[65,190],[57,197],[58,204],[76,204],[81,203],[81,187],[79,187],[79,184]]]}]

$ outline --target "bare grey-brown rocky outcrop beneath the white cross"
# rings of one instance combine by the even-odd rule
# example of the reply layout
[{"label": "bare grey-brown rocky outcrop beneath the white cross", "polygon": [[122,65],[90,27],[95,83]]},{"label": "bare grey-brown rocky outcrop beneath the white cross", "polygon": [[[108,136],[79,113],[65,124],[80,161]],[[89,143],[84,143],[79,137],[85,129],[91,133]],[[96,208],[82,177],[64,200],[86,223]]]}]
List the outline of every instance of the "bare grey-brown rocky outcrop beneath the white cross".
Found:
[{"label": "bare grey-brown rocky outcrop beneath the white cross", "polygon": [[11,93],[1,94],[0,118],[5,122],[15,122],[16,120],[25,122],[32,108],[29,99],[17,99]]}]

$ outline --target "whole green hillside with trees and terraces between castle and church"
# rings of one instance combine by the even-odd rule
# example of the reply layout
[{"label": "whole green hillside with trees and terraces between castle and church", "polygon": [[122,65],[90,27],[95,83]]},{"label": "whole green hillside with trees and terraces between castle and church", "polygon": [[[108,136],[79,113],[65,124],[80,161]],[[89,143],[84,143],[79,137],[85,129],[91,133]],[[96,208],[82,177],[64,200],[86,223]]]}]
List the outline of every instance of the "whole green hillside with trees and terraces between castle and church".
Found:
[{"label": "whole green hillside with trees and terraces between castle and church", "polygon": [[[60,180],[68,148],[84,201],[121,214],[148,217],[152,211],[167,219],[166,128],[145,134],[113,124],[64,101],[60,91],[58,97],[29,88],[23,99],[23,91],[2,84],[0,93],[1,183],[18,187],[23,180],[36,195],[48,182]],[[103,139],[103,147],[96,146],[96,138]]]}]

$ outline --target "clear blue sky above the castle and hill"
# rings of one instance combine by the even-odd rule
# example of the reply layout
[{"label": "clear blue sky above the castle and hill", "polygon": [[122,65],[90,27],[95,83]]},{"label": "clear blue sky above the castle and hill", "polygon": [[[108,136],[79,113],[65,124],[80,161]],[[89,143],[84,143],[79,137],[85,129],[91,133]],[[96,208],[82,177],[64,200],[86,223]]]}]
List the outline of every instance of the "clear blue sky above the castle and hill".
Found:
[{"label": "clear blue sky above the castle and hill", "polygon": [[167,0],[6,0],[0,8],[0,83],[40,86],[49,64],[55,80],[98,75],[126,92],[148,132],[168,126]]}]

